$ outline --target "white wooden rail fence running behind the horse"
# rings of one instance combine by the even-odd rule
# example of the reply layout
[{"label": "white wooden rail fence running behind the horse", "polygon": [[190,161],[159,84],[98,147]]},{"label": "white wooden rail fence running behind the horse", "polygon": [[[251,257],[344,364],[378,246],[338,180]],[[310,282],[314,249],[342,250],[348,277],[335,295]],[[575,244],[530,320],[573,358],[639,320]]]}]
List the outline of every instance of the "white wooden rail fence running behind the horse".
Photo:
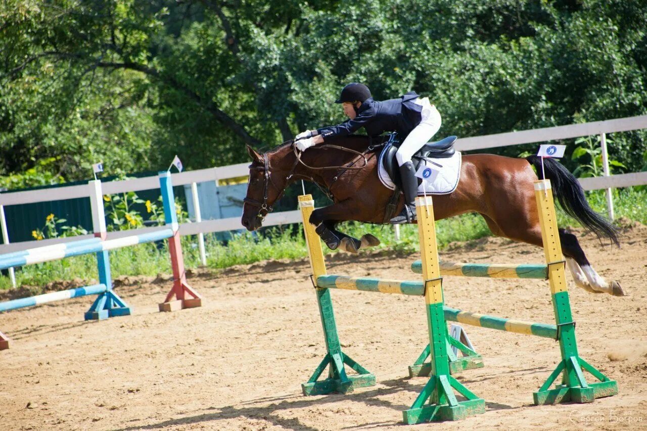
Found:
[{"label": "white wooden rail fence running behind the horse", "polygon": [[[575,138],[589,135],[600,135],[604,142],[606,133],[615,133],[620,131],[630,131],[647,128],[647,115],[632,116],[628,118],[617,118],[615,120],[605,120],[590,122],[584,124],[571,124],[569,126],[546,127],[543,129],[515,131],[510,133],[498,133],[496,135],[486,135],[481,137],[461,138],[457,140],[456,147],[461,151],[474,149],[487,149],[518,144],[530,144],[533,142],[545,142],[548,140],[560,140]],[[606,149],[603,146],[603,151]],[[607,161],[606,151],[604,151],[604,160]],[[193,184],[197,182],[219,181],[233,177],[242,177],[248,174],[248,163],[234,164],[231,166],[222,166],[218,168],[208,168],[171,175],[174,186],[184,184]],[[608,172],[608,167],[605,170]],[[157,177],[146,177],[138,179],[129,179],[124,181],[105,182],[103,185],[105,194],[123,193],[130,191],[151,190],[159,188]],[[620,175],[611,175],[606,177],[584,178],[580,179],[580,184],[584,190],[608,190],[610,197],[611,188],[638,186],[647,184],[647,172],[623,173]],[[88,197],[88,187],[85,184],[78,186],[67,186],[45,190],[29,190],[27,192],[5,192],[0,193],[0,221],[3,219],[3,206],[36,203],[43,201],[60,201],[64,199],[73,199],[78,197]],[[613,206],[609,200],[609,216],[613,219]],[[264,226],[285,225],[288,223],[299,223],[300,212],[285,211],[269,214],[265,219]],[[140,228],[136,230],[127,230],[122,232],[111,232],[108,238],[121,238],[159,230],[164,227]],[[225,219],[213,219],[199,221],[198,223],[184,223],[180,227],[181,235],[197,235],[209,232],[226,232],[230,230],[241,229],[240,217],[229,217]],[[41,241],[23,241],[21,243],[9,243],[7,236],[4,235],[5,244],[0,245],[0,254],[25,250],[34,245],[50,245],[63,243],[67,241],[91,238],[92,235],[81,238],[56,238],[45,239]],[[204,259],[204,256],[202,256]]]}]

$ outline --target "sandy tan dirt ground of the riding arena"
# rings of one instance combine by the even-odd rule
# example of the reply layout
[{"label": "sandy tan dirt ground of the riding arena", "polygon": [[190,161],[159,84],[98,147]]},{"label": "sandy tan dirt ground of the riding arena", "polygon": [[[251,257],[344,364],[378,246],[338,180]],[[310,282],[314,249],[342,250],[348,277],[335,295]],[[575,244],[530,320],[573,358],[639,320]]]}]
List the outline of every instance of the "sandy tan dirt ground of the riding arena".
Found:
[{"label": "sandy tan dirt ground of the riding arena", "polygon": [[[532,392],[558,362],[547,338],[467,327],[485,368],[457,378],[487,412],[415,429],[644,429],[647,425],[647,227],[625,232],[622,249],[583,239],[604,277],[627,296],[590,294],[570,281],[580,355],[618,382],[619,395],[591,404],[534,406]],[[542,262],[542,250],[483,239],[442,253],[455,261]],[[331,274],[416,280],[417,256],[373,254],[327,260]],[[170,280],[122,278],[116,292],[133,315],[84,322],[93,298],[0,315],[12,348],[0,351],[3,430],[354,430],[402,426],[402,410],[426,382],[407,366],[426,344],[424,301],[333,291],[345,353],[378,384],[348,395],[304,397],[300,384],[325,347],[306,261],[265,262],[190,283],[204,305],[159,313]],[[450,307],[552,323],[547,282],[447,277]],[[589,381],[595,381],[587,375]]]}]

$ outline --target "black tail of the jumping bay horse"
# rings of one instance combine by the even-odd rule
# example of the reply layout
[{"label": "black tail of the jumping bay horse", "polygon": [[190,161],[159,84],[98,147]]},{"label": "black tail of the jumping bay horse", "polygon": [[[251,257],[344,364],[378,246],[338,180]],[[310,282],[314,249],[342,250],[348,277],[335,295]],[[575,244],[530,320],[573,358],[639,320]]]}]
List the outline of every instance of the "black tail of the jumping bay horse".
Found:
[{"label": "black tail of the jumping bay horse", "polygon": [[[542,158],[531,155],[525,158],[534,166],[538,177],[542,177]],[[575,176],[570,173],[560,162],[545,157],[543,166],[546,178],[551,180],[553,195],[557,198],[562,209],[566,214],[573,217],[582,226],[593,232],[602,239],[603,237],[611,239],[611,242],[620,247],[618,239],[618,230],[609,221],[597,212],[593,211],[584,197],[584,190],[580,186]]]}]

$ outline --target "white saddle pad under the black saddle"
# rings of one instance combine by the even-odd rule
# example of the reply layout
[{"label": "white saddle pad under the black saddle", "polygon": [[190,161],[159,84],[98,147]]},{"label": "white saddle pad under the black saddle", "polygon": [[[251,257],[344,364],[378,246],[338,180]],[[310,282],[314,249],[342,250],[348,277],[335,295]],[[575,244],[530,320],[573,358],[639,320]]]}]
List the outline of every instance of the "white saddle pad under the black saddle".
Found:
[{"label": "white saddle pad under the black saddle", "polygon": [[[390,144],[389,144],[390,145]],[[384,169],[384,154],[386,147],[380,154],[380,164],[378,166],[377,175],[380,181],[386,188],[395,190],[395,184],[391,181],[391,177]],[[426,193],[428,195],[447,195],[454,192],[458,186],[458,180],[461,177],[461,152],[456,151],[452,157],[447,159],[424,159],[426,166],[439,171],[438,176],[432,181],[422,181],[418,186],[418,194]]]}]

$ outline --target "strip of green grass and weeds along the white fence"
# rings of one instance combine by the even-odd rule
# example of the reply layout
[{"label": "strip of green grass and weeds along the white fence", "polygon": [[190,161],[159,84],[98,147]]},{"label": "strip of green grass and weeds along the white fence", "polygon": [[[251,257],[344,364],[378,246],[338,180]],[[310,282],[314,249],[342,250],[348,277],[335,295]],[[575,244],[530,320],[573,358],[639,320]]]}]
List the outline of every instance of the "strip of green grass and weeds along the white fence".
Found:
[{"label": "strip of green grass and weeds along the white fence", "polygon": [[[604,191],[588,192],[587,199],[598,212],[606,212],[606,195]],[[615,216],[627,217],[633,221],[647,224],[647,189],[644,187],[613,190]],[[577,223],[558,213],[560,226],[577,227]],[[468,241],[490,235],[485,221],[476,214],[444,219],[436,224],[439,247],[443,249],[453,241]],[[295,260],[305,258],[307,250],[298,225],[276,227],[263,234],[236,234],[221,243],[214,236],[206,234],[207,266],[212,269],[223,269],[232,265],[249,264],[262,260]],[[418,232],[415,225],[400,226],[400,241],[395,240],[395,230],[391,226],[363,225],[348,222],[340,225],[343,232],[360,238],[370,233],[382,241],[380,248],[397,252],[412,253],[418,250]],[[186,267],[195,268],[200,264],[196,237],[183,237],[182,250]],[[336,251],[324,247],[326,254]],[[171,272],[170,259],[166,241],[156,244],[140,244],[110,252],[111,272],[113,278],[122,275],[155,276],[158,273]],[[96,257],[94,254],[75,256],[58,261],[28,265],[16,271],[18,285],[42,286],[56,280],[81,278],[85,282],[96,280]],[[11,282],[8,276],[0,277],[0,289],[9,289]]]}]

